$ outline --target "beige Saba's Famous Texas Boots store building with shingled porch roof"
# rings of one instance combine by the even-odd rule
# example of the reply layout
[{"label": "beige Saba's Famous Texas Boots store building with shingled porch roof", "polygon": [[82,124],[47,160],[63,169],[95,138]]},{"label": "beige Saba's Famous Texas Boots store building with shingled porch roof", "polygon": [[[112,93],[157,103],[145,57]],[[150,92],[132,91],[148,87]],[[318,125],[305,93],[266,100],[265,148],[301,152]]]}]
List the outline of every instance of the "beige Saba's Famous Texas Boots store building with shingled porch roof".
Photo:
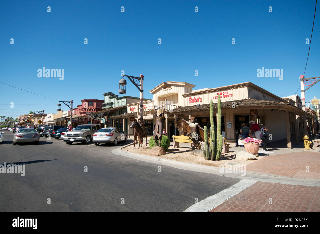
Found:
[{"label": "beige Saba's Famous Texas Boots store building with shingled porch roof", "polygon": [[[249,123],[250,120],[264,124],[269,129],[272,140],[286,139],[287,147],[292,147],[291,141],[299,143],[304,134],[313,136],[316,132],[313,115],[251,82],[198,90],[193,90],[194,87],[195,85],[187,82],[167,81],[150,90],[153,100],[145,101],[143,105],[148,134],[153,134],[154,111],[160,114],[162,108],[165,108],[164,128],[169,138],[179,134],[174,126],[174,114],[186,120],[196,117],[196,122],[202,127],[210,127],[209,104],[212,99],[215,115],[218,94],[221,97],[222,132],[230,144],[236,144],[236,132],[242,123]],[[129,126],[133,117],[140,116],[140,103],[127,106],[128,113],[114,118],[126,119],[128,134],[132,135],[133,129]],[[216,117],[214,119],[216,123]],[[307,122],[310,127],[305,127],[308,126]],[[291,137],[295,138],[292,140]]]}]

